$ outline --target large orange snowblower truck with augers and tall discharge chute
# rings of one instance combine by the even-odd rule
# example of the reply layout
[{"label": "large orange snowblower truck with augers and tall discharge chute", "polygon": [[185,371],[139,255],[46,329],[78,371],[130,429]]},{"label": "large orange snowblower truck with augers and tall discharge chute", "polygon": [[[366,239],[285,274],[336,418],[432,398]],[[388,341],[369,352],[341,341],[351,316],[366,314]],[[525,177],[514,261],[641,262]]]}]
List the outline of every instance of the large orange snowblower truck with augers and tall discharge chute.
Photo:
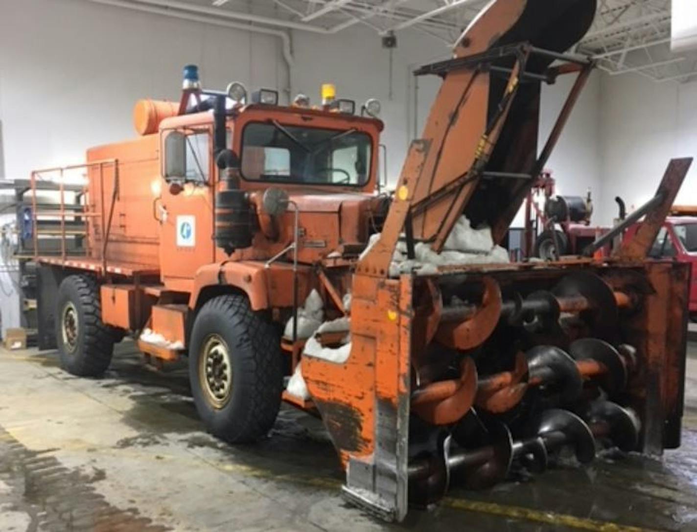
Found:
[{"label": "large orange snowblower truck with augers and tall discharge chute", "polygon": [[[179,105],[140,102],[139,138],[88,151],[84,190],[57,181],[82,207],[54,231],[84,222],[85,253],[36,257],[43,345],[86,376],[126,334],[187,356],[201,418],[231,443],[266,434],[282,400],[319,416],[344,496],[385,519],[562,448],[679,446],[690,271],[647,254],[691,159],[585,256],[512,264],[498,245],[592,71],[565,51],[596,8],[489,2],[417,72],[443,84],[394,195],[376,190],[376,102],[247,102],[186,68]],[[562,74],[576,82],[538,149],[541,86]]]}]

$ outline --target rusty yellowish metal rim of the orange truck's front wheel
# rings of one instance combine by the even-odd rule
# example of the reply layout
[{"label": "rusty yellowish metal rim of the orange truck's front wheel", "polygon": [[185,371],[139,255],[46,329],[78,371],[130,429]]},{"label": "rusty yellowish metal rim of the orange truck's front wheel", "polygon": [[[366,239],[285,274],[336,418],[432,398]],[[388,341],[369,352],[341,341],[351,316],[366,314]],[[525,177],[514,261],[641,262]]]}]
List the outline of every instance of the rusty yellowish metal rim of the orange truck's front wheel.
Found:
[{"label": "rusty yellowish metal rim of the orange truck's front wheel", "polygon": [[199,356],[199,382],[206,400],[215,409],[222,409],[232,392],[230,351],[219,335],[209,335]]}]

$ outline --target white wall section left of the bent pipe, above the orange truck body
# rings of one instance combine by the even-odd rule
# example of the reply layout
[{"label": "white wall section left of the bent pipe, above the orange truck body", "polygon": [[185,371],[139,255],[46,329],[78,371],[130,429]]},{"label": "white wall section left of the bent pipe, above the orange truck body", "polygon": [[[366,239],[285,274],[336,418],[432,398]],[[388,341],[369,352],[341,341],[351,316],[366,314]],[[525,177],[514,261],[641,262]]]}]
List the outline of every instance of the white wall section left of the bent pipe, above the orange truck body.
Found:
[{"label": "white wall section left of the bent pipe, above the orange truck body", "polygon": [[139,98],[178,100],[181,71],[206,86],[280,86],[277,38],[84,0],[0,0],[0,119],[8,178],[81,161],[132,137]]}]

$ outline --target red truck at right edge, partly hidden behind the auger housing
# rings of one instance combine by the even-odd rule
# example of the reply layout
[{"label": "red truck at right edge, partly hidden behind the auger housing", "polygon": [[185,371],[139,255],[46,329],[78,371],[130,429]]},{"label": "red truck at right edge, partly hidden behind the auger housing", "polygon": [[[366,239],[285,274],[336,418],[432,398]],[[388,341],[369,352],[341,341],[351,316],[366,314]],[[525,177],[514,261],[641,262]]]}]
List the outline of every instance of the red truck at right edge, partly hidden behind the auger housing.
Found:
[{"label": "red truck at right edge, partly hidden behind the auger housing", "polygon": [[[661,227],[649,257],[692,264],[689,311],[690,319],[697,322],[697,206],[674,206],[671,214]],[[641,222],[629,227],[624,238],[633,238],[639,227]]]}]

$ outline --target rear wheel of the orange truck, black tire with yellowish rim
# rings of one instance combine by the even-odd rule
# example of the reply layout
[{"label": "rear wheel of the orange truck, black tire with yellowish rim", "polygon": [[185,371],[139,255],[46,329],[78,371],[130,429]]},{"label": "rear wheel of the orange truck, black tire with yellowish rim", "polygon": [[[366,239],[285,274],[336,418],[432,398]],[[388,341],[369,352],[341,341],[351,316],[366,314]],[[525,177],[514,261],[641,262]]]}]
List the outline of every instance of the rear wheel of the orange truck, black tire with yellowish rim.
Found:
[{"label": "rear wheel of the orange truck, black tire with yellowish rim", "polygon": [[102,322],[99,286],[88,275],[63,279],[56,301],[61,367],[78,377],[99,377],[112,362],[114,337]]}]

